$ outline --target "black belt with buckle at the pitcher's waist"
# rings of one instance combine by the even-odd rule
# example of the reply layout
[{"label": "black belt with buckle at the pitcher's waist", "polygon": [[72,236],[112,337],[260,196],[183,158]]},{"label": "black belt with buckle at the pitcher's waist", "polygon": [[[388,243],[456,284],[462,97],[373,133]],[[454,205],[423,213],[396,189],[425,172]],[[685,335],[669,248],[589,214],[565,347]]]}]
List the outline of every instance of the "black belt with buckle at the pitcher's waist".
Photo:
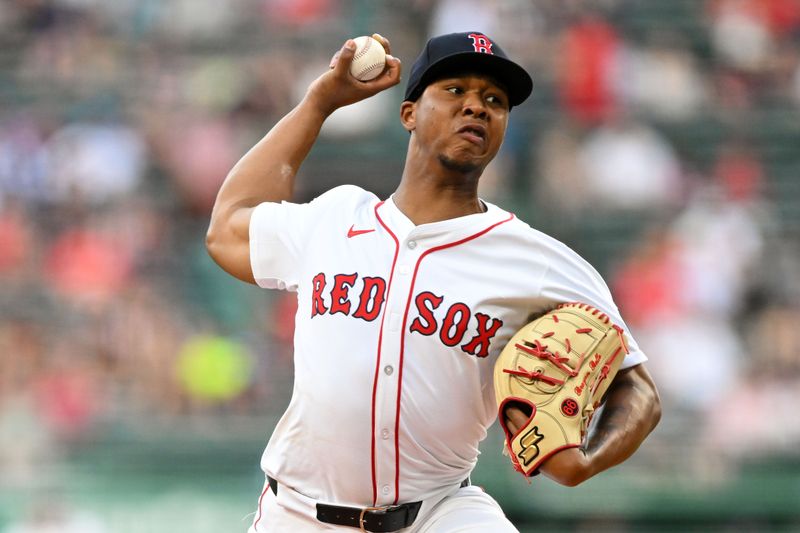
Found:
[{"label": "black belt with buckle at the pitcher's waist", "polygon": [[[272,492],[278,495],[278,482],[267,476]],[[462,487],[469,485],[469,478],[461,482]],[[326,524],[349,526],[362,531],[375,533],[398,531],[414,523],[422,502],[410,502],[384,507],[341,507],[338,505],[317,504],[317,520]]]}]

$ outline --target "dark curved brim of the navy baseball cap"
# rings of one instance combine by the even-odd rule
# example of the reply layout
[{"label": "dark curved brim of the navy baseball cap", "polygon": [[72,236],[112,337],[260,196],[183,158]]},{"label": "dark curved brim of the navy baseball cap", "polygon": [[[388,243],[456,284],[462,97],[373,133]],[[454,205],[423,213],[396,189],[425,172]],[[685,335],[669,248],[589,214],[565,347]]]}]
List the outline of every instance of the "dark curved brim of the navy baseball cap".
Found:
[{"label": "dark curved brim of the navy baseball cap", "polygon": [[432,63],[406,100],[417,100],[425,87],[448,74],[478,72],[495,78],[508,93],[509,107],[524,102],[533,91],[533,80],[524,68],[510,59],[492,54],[458,52]]}]

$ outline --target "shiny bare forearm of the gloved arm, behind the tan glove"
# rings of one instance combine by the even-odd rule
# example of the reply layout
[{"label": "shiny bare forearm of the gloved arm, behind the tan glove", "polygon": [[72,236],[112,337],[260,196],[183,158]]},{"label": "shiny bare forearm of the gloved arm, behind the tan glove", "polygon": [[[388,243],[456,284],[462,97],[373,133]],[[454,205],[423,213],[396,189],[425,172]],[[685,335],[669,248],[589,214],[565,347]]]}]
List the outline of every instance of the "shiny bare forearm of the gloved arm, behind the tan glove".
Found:
[{"label": "shiny bare forearm of the gloved arm, behind the tan glove", "polygon": [[621,372],[584,446],[590,458],[587,478],[633,455],[661,418],[656,387],[643,366]]}]

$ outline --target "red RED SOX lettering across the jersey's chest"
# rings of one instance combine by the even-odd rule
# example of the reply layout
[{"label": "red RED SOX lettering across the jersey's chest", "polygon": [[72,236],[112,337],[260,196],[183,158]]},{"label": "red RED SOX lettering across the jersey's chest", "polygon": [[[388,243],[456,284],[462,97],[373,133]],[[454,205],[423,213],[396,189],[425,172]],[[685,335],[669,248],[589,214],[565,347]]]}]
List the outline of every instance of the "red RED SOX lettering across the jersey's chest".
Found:
[{"label": "red RED SOX lettering across the jersey's chest", "polygon": [[[360,291],[354,291],[351,295],[350,290],[356,286],[358,279],[358,273],[336,274],[333,276],[332,286],[328,288],[328,276],[324,272],[314,276],[311,283],[311,318],[326,313],[341,313],[368,322],[378,318],[386,299],[386,281],[380,277],[363,276]],[[445,346],[460,345],[463,352],[476,357],[489,355],[491,341],[503,325],[502,320],[485,313],[473,312],[463,302],[451,304],[440,322],[434,311],[444,303],[444,297],[430,291],[420,292],[413,302],[415,309],[410,312],[412,316],[416,316],[411,321],[410,332],[426,336],[433,336],[438,332],[439,340]],[[355,311],[351,313],[354,305]],[[474,328],[472,336],[468,335],[470,325]]]}]

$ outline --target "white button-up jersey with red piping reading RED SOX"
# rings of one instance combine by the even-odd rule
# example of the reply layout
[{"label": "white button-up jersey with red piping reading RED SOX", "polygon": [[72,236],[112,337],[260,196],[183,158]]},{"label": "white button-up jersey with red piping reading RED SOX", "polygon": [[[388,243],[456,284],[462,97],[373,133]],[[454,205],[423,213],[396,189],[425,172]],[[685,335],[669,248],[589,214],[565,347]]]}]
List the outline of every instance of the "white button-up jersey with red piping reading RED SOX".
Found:
[{"label": "white button-up jersey with red piping reading RED SOX", "polygon": [[[625,327],[588,263],[484,203],[416,226],[348,185],[254,210],[253,275],[299,302],[294,392],[265,472],[327,503],[423,500],[475,466],[497,415],[494,361],[532,312],[581,301]],[[645,360],[629,344],[623,367]]]}]

